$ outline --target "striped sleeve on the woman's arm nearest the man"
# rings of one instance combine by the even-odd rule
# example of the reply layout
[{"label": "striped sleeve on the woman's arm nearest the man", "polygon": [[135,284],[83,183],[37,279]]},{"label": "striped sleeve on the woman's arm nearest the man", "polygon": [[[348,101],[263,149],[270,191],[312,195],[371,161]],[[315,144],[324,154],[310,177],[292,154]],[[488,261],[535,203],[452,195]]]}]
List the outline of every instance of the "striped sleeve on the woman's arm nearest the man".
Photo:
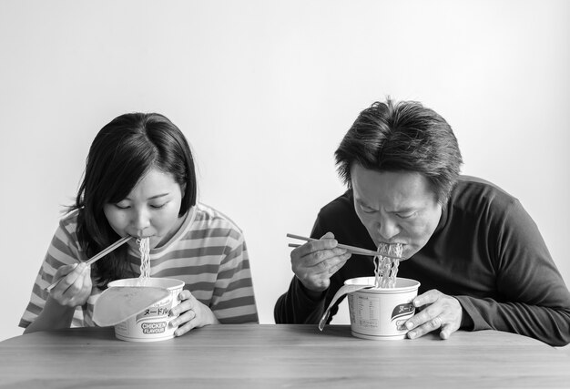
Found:
[{"label": "striped sleeve on the woman's arm nearest the man", "polygon": [[246,242],[237,230],[231,235],[209,308],[221,323],[259,323]]}]

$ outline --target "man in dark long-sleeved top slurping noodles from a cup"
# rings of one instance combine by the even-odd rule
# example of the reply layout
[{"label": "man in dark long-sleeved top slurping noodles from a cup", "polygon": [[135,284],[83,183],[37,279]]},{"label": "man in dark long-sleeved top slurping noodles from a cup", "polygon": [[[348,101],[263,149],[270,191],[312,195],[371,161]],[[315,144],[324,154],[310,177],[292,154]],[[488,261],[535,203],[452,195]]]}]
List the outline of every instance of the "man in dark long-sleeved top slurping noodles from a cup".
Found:
[{"label": "man in dark long-sleeved top slurping noodles from a cup", "polygon": [[291,252],[295,276],[276,322],[317,323],[345,280],[373,275],[372,257],[349,260],[338,243],[402,243],[398,276],[422,284],[409,338],[494,329],[570,342],[570,293],[534,221],[504,190],[459,175],[461,152],[440,115],[375,103],[335,157],[348,190],[321,209],[310,235],[318,241]]}]

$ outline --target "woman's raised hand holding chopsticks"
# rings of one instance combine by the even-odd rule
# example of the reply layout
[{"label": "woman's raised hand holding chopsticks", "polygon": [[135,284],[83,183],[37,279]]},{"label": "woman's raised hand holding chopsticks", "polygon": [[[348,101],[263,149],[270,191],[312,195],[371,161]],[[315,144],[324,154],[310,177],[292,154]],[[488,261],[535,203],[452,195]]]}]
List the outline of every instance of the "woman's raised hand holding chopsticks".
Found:
[{"label": "woman's raised hand holding chopsticks", "polygon": [[50,298],[62,306],[76,307],[87,302],[91,294],[91,267],[85,262],[64,265],[57,269],[54,281],[62,279],[49,293]]}]

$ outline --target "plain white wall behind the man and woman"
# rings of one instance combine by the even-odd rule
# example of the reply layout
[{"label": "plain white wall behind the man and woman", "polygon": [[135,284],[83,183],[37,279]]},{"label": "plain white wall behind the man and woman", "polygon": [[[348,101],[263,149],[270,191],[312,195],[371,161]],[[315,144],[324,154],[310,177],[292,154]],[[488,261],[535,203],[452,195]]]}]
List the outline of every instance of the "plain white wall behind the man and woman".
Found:
[{"label": "plain white wall behind the man and woman", "polygon": [[521,200],[570,281],[569,20],[565,0],[0,0],[0,340],[92,139],[132,111],[188,137],[200,200],[244,230],[262,323],[292,275],[285,234],[341,194],[333,152],[388,95],[447,119],[463,173]]}]

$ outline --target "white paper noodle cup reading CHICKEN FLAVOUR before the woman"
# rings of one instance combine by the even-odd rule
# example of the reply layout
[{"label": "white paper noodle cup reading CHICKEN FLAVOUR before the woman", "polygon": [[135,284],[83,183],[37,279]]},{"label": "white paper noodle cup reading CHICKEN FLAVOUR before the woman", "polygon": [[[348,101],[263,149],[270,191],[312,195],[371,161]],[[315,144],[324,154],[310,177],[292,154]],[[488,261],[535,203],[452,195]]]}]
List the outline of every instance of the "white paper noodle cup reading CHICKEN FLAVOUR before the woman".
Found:
[{"label": "white paper noodle cup reading CHICKEN FLAVOUR before the woman", "polygon": [[139,278],[128,278],[108,283],[109,288],[115,286],[148,286],[165,288],[170,292],[168,297],[149,306],[135,316],[120,322],[115,326],[115,336],[128,342],[155,342],[174,337],[176,328],[170,326],[174,317],[168,317],[168,312],[178,305],[178,294],[182,292],[184,282],[173,278],[148,278],[144,285]]}]

